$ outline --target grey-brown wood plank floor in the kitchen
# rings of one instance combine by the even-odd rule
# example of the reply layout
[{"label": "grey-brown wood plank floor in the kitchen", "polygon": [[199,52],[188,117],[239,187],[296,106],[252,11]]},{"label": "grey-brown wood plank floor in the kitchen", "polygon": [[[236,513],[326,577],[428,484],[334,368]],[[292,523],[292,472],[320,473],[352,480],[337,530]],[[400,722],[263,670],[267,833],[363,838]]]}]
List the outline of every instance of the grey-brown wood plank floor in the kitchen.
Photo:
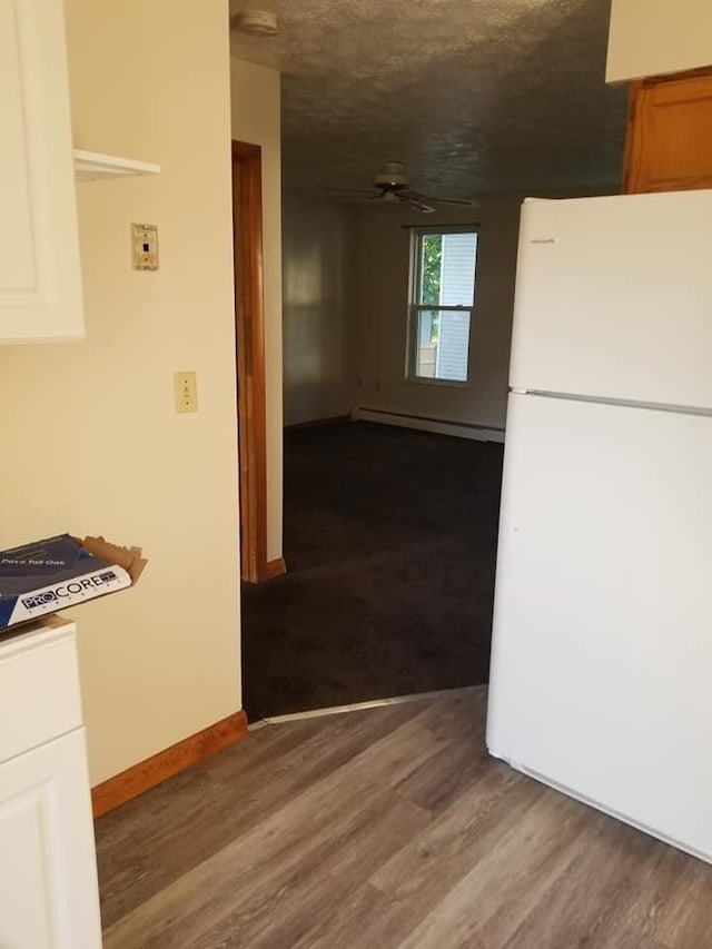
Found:
[{"label": "grey-brown wood plank floor in the kitchen", "polygon": [[487,757],[485,688],[267,725],[97,822],[106,949],[706,949],[712,867]]}]

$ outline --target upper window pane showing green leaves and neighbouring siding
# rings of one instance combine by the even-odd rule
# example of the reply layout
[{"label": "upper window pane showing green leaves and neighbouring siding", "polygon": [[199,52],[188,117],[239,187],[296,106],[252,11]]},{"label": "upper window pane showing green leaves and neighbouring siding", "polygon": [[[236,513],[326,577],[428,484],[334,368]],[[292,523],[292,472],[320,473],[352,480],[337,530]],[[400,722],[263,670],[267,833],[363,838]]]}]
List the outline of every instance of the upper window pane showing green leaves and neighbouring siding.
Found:
[{"label": "upper window pane showing green leaves and neighbouring siding", "polygon": [[472,306],[477,235],[421,235],[421,306]]}]

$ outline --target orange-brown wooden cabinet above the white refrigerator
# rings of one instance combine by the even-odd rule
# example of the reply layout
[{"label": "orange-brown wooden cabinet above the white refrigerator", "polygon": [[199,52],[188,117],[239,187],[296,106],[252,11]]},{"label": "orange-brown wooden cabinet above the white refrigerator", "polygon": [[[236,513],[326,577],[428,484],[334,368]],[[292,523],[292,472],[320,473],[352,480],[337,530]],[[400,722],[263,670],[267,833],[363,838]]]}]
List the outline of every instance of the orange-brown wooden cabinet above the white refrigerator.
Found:
[{"label": "orange-brown wooden cabinet above the white refrigerator", "polygon": [[631,87],[623,190],[712,188],[712,70]]}]

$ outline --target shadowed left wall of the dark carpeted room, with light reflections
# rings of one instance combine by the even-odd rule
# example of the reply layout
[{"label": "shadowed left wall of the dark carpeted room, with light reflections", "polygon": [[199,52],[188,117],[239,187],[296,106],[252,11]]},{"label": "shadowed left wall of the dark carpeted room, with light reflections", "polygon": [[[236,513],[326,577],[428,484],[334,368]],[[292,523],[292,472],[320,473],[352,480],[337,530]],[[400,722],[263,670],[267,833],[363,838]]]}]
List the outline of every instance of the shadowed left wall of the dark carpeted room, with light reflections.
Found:
[{"label": "shadowed left wall of the dark carpeted room, with light reflections", "polygon": [[284,204],[285,424],[352,408],[347,208],[286,194]]}]

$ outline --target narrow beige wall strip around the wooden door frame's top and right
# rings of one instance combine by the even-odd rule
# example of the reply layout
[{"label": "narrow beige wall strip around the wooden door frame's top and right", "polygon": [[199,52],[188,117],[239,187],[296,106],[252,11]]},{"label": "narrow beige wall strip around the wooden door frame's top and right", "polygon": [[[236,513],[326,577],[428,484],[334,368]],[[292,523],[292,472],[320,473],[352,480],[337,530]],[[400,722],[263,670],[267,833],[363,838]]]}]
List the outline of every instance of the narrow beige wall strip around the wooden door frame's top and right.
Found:
[{"label": "narrow beige wall strip around the wooden door frame's top and right", "polygon": [[281,556],[281,146],[279,73],[231,61],[233,138],[261,147],[267,412],[267,560]]}]

